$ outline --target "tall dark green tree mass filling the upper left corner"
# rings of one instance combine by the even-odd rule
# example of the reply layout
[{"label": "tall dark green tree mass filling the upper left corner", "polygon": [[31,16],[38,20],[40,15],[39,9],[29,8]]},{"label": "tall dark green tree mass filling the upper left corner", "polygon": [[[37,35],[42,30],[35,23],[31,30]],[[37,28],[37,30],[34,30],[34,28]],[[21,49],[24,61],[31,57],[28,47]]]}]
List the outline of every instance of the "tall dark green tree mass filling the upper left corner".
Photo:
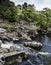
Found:
[{"label": "tall dark green tree mass filling the upper left corner", "polygon": [[[2,4],[1,4],[2,3]],[[13,2],[9,0],[2,0],[0,5],[0,15],[3,19],[7,19],[9,21],[17,21],[17,7]]]}]

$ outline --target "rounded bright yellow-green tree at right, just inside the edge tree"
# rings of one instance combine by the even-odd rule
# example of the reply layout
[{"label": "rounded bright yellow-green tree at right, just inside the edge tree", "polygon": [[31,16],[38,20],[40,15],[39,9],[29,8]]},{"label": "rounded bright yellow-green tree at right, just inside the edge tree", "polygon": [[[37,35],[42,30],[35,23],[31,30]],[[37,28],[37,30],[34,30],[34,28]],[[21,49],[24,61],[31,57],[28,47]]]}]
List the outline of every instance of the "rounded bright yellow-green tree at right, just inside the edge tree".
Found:
[{"label": "rounded bright yellow-green tree at right, just inside the edge tree", "polygon": [[46,16],[42,13],[37,14],[35,24],[40,28],[46,28]]}]

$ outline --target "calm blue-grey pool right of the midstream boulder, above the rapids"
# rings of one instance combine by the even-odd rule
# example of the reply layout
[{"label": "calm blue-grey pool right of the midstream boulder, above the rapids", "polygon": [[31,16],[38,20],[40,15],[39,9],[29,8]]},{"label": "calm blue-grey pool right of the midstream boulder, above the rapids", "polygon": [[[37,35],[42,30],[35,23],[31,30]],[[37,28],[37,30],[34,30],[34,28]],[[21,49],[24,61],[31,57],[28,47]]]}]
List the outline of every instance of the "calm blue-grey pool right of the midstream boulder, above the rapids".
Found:
[{"label": "calm blue-grey pool right of the midstream boulder, above the rapids", "polygon": [[51,37],[43,35],[38,36],[36,40],[43,44],[42,51],[51,53]]}]

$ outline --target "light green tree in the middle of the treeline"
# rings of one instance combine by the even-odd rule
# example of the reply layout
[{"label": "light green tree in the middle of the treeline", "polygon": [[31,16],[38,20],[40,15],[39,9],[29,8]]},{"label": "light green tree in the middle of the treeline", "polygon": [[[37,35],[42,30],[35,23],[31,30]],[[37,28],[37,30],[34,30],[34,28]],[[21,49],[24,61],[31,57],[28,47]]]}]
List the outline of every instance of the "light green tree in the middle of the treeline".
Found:
[{"label": "light green tree in the middle of the treeline", "polygon": [[22,19],[24,19],[25,21],[28,22],[33,22],[34,20],[34,12],[35,9],[33,7],[28,7],[27,8],[23,8],[22,10]]}]

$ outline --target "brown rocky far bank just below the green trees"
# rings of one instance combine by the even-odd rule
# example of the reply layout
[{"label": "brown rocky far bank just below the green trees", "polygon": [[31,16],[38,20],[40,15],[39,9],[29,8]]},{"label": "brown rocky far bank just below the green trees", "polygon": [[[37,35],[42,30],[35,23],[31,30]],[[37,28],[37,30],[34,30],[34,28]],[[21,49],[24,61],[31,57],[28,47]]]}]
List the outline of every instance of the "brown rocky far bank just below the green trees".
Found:
[{"label": "brown rocky far bank just below the green trees", "polygon": [[14,22],[0,22],[0,38],[9,40],[27,39],[35,37],[38,34],[37,27],[32,23],[20,21]]}]

